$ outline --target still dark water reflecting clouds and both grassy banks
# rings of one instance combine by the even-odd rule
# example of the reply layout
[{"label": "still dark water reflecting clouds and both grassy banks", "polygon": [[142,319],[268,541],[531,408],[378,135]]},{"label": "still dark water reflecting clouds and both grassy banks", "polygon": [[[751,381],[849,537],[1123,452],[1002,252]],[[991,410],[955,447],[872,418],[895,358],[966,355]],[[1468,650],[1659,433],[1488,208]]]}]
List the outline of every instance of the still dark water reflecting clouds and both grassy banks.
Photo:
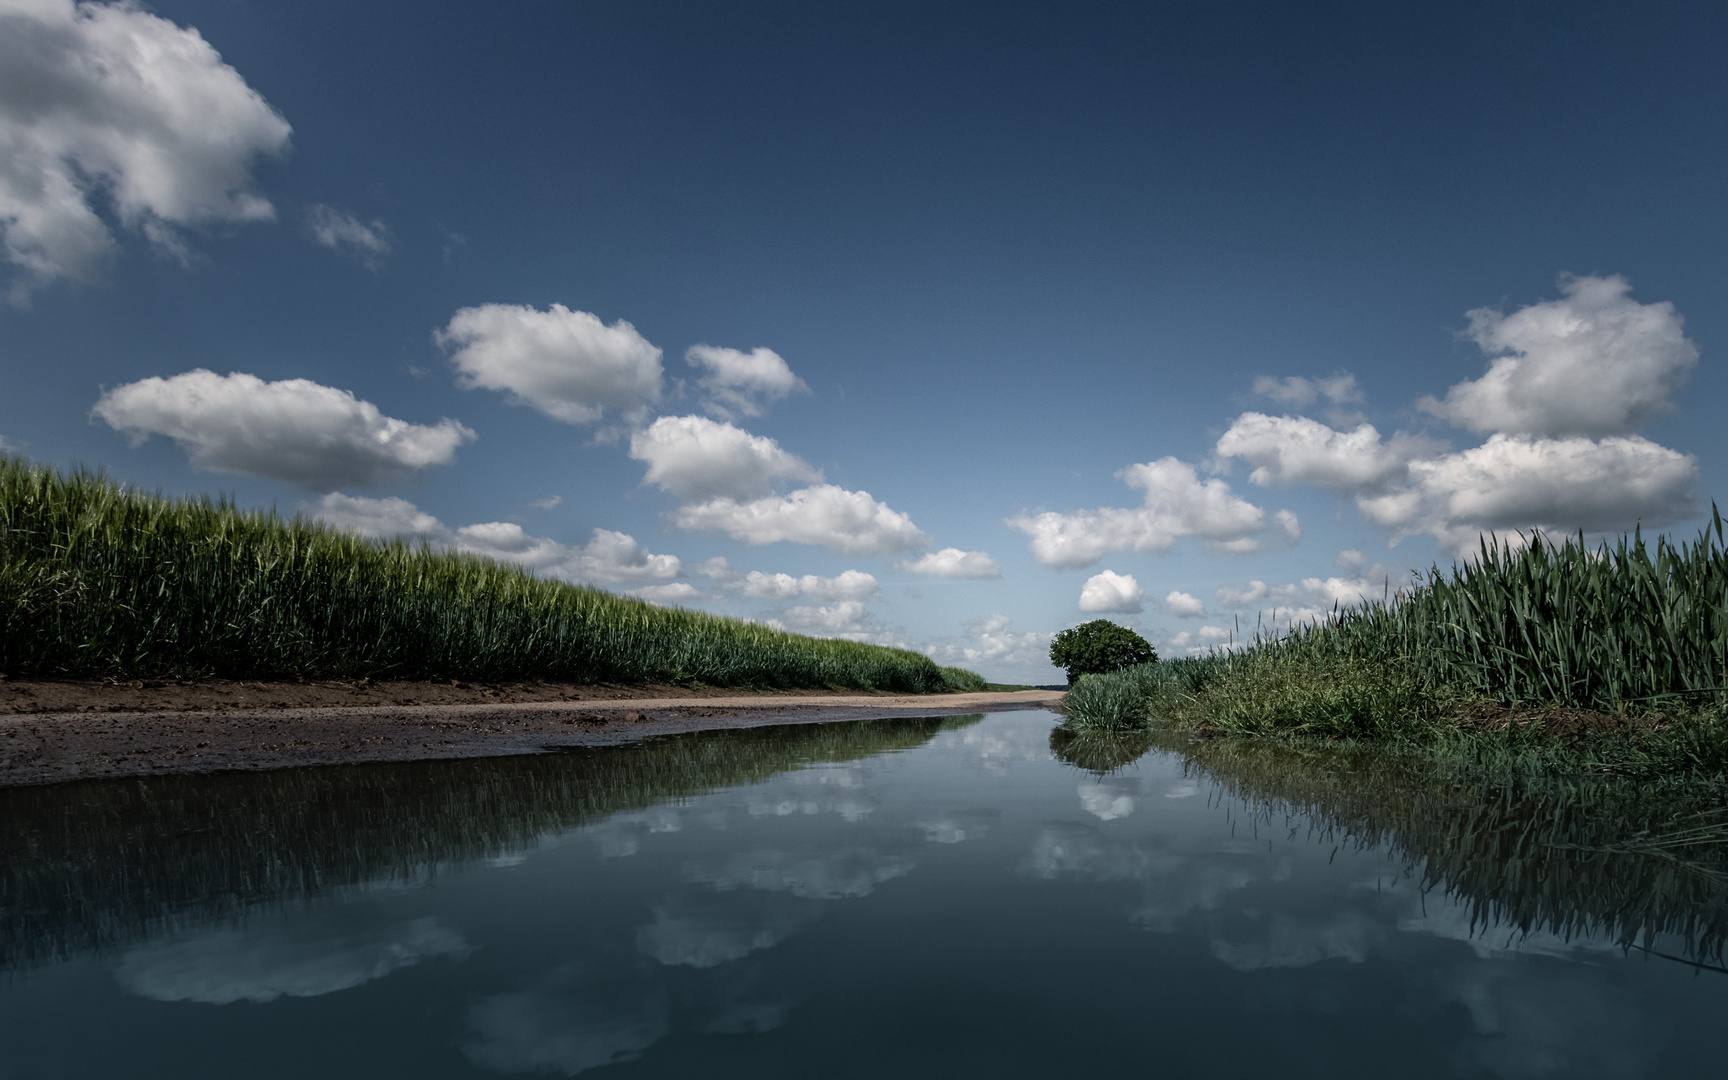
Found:
[{"label": "still dark water reflecting clouds and both grassy banks", "polygon": [[1638,805],[1058,721],[0,791],[0,1077],[1719,1068]]}]

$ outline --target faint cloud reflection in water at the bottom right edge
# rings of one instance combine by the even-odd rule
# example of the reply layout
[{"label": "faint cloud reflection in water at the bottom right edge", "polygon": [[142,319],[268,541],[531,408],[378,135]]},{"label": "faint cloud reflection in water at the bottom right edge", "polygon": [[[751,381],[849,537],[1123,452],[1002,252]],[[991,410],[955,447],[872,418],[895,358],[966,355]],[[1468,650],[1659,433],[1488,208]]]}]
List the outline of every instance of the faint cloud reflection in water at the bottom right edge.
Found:
[{"label": "faint cloud reflection in water at the bottom right edge", "polygon": [[1446,990],[1469,1009],[1476,1030],[1460,1047],[1460,1073],[1630,1080],[1654,1071],[1671,1033],[1631,990],[1590,966],[1476,962]]}]

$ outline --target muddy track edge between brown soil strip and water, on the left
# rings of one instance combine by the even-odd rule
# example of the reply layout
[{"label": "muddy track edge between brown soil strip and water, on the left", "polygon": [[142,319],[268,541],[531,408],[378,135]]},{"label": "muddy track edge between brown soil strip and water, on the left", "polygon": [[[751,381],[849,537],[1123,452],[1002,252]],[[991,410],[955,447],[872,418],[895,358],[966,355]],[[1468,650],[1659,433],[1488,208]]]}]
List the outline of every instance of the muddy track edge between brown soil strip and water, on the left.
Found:
[{"label": "muddy track edge between brown soil strip and water, on the left", "polygon": [[686,691],[683,696],[454,705],[12,712],[0,715],[0,786],[544,753],[715,727],[1049,708],[1061,698],[1054,689],[947,695]]}]

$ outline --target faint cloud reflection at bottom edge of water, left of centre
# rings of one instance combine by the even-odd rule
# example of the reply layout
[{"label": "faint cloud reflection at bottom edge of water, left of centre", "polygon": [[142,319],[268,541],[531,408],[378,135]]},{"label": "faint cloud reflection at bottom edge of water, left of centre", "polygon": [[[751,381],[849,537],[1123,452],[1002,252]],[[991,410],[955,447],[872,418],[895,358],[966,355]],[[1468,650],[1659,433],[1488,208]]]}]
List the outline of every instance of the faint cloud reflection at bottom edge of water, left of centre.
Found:
[{"label": "faint cloud reflection at bottom edge of water, left of centre", "polygon": [[665,999],[639,976],[563,968],[520,994],[482,997],[468,1009],[475,1039],[463,1054],[501,1073],[574,1077],[634,1061],[665,1037]]}]

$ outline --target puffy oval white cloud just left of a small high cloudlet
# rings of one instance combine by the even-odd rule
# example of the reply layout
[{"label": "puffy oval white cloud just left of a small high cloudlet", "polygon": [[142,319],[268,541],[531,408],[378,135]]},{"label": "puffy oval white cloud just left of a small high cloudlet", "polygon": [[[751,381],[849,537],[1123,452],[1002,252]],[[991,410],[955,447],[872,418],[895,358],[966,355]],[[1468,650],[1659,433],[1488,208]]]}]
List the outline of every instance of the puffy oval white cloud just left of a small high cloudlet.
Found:
[{"label": "puffy oval white cloud just left of a small high cloudlet", "polygon": [[641,416],[660,399],[660,349],[624,320],[608,327],[563,304],[480,304],[432,339],[451,351],[463,389],[503,391],[565,423],[593,423],[607,410]]}]

